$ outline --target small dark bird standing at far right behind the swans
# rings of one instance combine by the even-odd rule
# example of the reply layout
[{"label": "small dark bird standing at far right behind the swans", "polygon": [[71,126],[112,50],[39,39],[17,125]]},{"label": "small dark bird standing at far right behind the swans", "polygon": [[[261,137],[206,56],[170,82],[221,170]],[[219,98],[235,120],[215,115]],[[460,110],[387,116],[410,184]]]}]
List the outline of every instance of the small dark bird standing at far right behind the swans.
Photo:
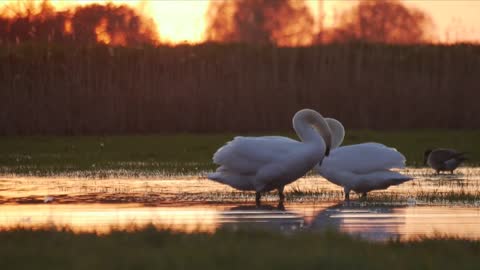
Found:
[{"label": "small dark bird standing at far right behind the swans", "polygon": [[467,160],[465,157],[465,152],[457,152],[453,149],[437,148],[437,149],[428,149],[425,151],[423,163],[424,165],[429,165],[432,167],[437,174],[442,171],[450,171],[453,174],[453,171],[460,165],[463,161]]}]

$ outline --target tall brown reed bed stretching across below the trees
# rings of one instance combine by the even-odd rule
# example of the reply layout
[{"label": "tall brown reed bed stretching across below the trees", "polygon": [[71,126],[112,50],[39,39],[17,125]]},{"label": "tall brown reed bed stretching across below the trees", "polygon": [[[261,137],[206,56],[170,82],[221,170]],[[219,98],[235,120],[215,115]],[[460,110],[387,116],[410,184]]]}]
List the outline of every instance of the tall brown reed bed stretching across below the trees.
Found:
[{"label": "tall brown reed bed stretching across below the trees", "polygon": [[0,47],[0,134],[479,128],[480,47]]}]

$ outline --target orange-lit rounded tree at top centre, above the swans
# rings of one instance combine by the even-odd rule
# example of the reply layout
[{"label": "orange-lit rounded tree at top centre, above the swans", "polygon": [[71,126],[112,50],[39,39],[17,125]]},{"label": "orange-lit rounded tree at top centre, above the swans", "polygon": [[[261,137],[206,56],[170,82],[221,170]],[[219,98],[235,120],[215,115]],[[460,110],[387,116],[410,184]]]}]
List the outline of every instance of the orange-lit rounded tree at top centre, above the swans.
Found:
[{"label": "orange-lit rounded tree at top centre, above the swans", "polygon": [[212,1],[207,12],[209,41],[307,45],[313,31],[303,0]]}]

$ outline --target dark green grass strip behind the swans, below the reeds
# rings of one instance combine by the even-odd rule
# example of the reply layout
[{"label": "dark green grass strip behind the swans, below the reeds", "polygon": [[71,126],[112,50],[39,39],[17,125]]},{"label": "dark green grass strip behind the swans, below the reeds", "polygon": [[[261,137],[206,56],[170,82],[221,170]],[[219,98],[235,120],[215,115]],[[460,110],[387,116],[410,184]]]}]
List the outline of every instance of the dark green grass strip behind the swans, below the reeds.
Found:
[{"label": "dark green grass strip behind the swans, below the reeds", "polygon": [[[273,132],[272,134],[278,134]],[[245,135],[245,134],[238,134]],[[282,135],[282,134],[281,134]],[[295,138],[292,133],[283,134]],[[85,175],[199,173],[212,170],[211,157],[234,134],[82,137],[0,137],[0,173]],[[407,165],[422,164],[423,151],[451,147],[480,163],[480,130],[347,131],[344,145],[376,141],[397,148]]]}]

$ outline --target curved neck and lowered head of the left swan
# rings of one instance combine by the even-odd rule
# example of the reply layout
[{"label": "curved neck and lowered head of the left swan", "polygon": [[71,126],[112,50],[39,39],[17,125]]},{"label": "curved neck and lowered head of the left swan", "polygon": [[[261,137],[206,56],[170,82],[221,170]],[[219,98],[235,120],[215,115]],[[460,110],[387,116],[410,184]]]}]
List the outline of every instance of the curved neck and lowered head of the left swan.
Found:
[{"label": "curved neck and lowered head of the left swan", "polygon": [[[327,121],[321,114],[311,109],[300,110],[293,116],[293,128],[305,142],[318,140],[319,133],[325,142],[325,156],[330,154],[332,134]],[[316,132],[311,132],[312,128]]]}]

